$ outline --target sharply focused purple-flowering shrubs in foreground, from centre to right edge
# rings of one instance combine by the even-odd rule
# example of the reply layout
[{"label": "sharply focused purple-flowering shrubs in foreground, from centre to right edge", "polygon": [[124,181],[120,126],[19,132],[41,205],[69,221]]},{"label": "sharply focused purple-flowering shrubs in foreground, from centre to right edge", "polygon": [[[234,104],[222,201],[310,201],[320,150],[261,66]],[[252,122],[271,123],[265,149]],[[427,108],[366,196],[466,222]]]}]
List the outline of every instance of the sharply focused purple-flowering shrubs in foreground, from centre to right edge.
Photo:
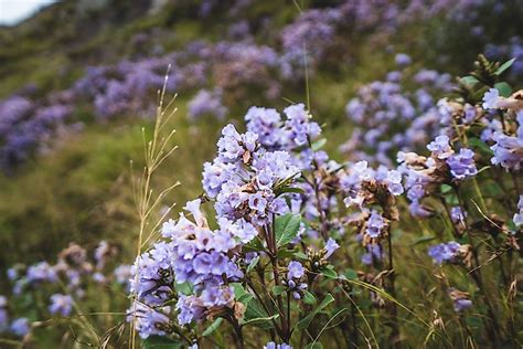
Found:
[{"label": "sharply focused purple-flowering shrubs in foreground, from centre to right edge", "polygon": [[[302,104],[288,106],[284,116],[252,107],[245,133],[233,125],[222,129],[216,156],[204,165],[204,194],[185,204],[188,216],[180,213],[164,222],[163,239],[137,257],[128,320],[151,343],[167,337],[193,348],[221,328],[230,329],[230,340],[239,348],[263,342],[265,348],[312,346],[320,337],[332,342],[322,337],[324,331],[332,337],[346,331],[334,341],[350,346],[362,340],[359,332],[372,330],[357,313],[369,299],[365,311],[391,321],[373,339],[375,345],[386,338],[403,341],[403,313],[425,328],[425,343],[459,340],[460,330],[446,328],[447,317],[477,343],[516,340],[509,335],[519,299],[517,274],[510,265],[519,258],[523,199],[520,179],[505,173],[521,168],[523,105],[519,93],[509,96],[506,83],[499,81],[509,66],[480,56],[473,74],[460,82],[460,97],[439,103],[447,118],[434,125],[427,156],[398,151],[395,167],[330,160],[321,150],[321,128]],[[429,81],[438,76],[424,74]],[[448,77],[440,83],[444,89],[445,84]],[[435,108],[433,102],[430,106]],[[412,119],[424,117],[424,112],[412,110]],[[494,118],[504,126],[483,137],[484,142],[481,137]],[[503,193],[482,192],[478,183],[492,178]],[[403,208],[407,202],[409,212]],[[494,202],[508,211],[489,209]],[[215,212],[212,220],[202,210],[207,205]],[[441,240],[421,251],[433,260],[434,266],[426,267],[439,284],[433,292],[441,292],[451,311],[418,311],[407,299],[419,290],[405,289],[409,276],[396,271],[394,235],[412,229],[412,216],[427,222],[420,223],[425,233],[416,245]],[[489,240],[493,250],[479,239]],[[354,242],[362,248],[351,248],[349,255]],[[361,256],[360,263],[354,255]],[[499,268],[492,269],[494,261]],[[500,288],[489,287],[485,275],[501,283]],[[511,315],[499,309],[503,289],[510,294]],[[473,314],[481,318],[472,326]],[[335,319],[338,325],[328,329]]]}]

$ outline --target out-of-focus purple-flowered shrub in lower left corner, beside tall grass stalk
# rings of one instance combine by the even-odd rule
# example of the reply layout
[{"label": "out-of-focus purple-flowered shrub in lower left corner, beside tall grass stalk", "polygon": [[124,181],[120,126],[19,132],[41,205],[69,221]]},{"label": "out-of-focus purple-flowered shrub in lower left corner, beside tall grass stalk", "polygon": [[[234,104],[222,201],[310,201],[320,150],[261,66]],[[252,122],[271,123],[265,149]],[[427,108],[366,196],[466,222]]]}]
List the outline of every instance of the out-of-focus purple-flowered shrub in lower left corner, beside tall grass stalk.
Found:
[{"label": "out-of-focus purple-flowered shrub in lower left corner, beside tall grass stalk", "polygon": [[[45,320],[72,319],[75,315],[79,318],[72,320],[73,325],[95,326],[83,317],[88,311],[103,310],[100,294],[110,297],[109,286],[114,287],[114,295],[129,288],[131,266],[119,265],[111,271],[117,252],[116,246],[100,241],[89,256],[84,247],[71,243],[55,264],[42,261],[10,267],[7,276],[13,287],[9,298],[0,296],[0,334],[29,341],[34,330],[47,326]],[[88,309],[85,303],[93,297],[97,297],[97,308]],[[98,330],[111,326],[107,319],[96,322]]]}]

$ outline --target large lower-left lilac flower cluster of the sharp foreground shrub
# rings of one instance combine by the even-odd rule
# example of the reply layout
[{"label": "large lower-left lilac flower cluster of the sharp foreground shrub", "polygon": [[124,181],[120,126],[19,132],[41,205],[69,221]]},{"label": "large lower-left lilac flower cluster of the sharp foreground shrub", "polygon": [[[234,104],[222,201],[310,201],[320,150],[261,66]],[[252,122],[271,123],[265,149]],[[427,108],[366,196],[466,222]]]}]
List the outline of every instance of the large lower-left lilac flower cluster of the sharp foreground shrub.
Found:
[{"label": "large lower-left lilac flower cluster of the sharp foreground shrub", "polygon": [[[166,222],[162,235],[168,242],[158,242],[149,252],[140,255],[134,266],[130,292],[137,300],[130,309],[130,318],[141,316],[136,324],[140,336],[147,338],[151,328],[168,322],[163,313],[156,314],[153,308],[161,307],[171,299],[178,299],[179,325],[205,319],[206,309],[230,307],[234,305],[234,292],[228,282],[243,277],[242,271],[228,253],[242,243],[256,236],[256,229],[246,221],[231,222],[220,220],[220,229],[212,231],[200,210],[200,199],[188,202],[185,209],[192,214],[194,222],[183,214],[174,222]],[[175,284],[189,283],[193,294],[178,292]],[[137,308],[137,304],[142,304]],[[147,311],[146,311],[146,310]],[[139,313],[146,311],[146,316]],[[135,314],[135,316],[132,316]]]}]

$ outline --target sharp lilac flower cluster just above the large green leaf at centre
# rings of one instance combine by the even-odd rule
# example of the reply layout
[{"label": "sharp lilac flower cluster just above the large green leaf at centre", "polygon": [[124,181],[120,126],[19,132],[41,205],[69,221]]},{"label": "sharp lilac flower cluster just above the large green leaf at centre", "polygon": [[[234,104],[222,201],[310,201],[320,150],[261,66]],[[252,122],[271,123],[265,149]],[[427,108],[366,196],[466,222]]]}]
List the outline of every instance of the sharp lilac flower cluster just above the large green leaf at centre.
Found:
[{"label": "sharp lilac flower cluster just above the large green leaf at centre", "polygon": [[274,187],[299,174],[287,151],[267,151],[252,131],[238,134],[233,125],[222,130],[218,154],[203,171],[203,188],[215,198],[218,216],[244,220],[263,225],[273,214],[284,214],[289,208]]}]

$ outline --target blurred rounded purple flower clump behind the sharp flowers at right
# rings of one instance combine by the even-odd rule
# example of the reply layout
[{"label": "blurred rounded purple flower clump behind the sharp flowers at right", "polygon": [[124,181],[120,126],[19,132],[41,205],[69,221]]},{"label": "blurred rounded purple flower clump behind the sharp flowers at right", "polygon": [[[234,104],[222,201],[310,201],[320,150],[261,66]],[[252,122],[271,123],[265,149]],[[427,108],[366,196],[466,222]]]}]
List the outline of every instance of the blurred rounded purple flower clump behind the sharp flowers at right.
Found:
[{"label": "blurred rounded purple flower clump behind the sharp flowers at right", "polygon": [[[402,56],[399,63],[406,62]],[[407,82],[416,89],[406,89]],[[413,151],[439,134],[444,118],[435,97],[451,87],[448,74],[427,70],[413,76],[394,71],[387,81],[361,87],[345,107],[355,127],[340,149],[355,159],[392,166],[395,151]]]}]

